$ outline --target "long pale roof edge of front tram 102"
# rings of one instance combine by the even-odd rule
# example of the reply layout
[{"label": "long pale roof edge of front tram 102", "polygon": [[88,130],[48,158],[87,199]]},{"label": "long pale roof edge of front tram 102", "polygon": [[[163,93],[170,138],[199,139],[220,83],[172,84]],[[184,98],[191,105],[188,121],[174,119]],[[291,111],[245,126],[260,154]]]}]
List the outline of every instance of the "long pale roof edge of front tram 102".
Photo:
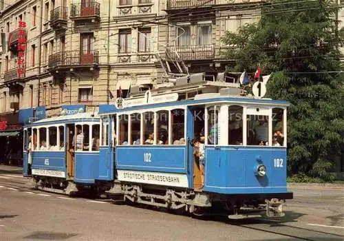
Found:
[{"label": "long pale roof edge of front tram 102", "polygon": [[160,107],[180,107],[180,106],[191,106],[191,105],[206,105],[212,103],[233,103],[237,105],[267,105],[267,106],[274,106],[274,107],[288,107],[290,103],[288,101],[279,101],[273,100],[271,98],[254,98],[252,96],[212,96],[212,95],[204,95],[204,97],[200,96],[195,99],[190,100],[182,100],[182,101],[171,101],[171,102],[164,102],[164,103],[147,103],[144,105],[136,105],[131,107],[125,107],[122,109],[116,108],[115,105],[100,105],[99,108],[99,115],[111,114],[111,113],[118,113],[118,112],[130,112],[132,110],[139,110],[139,109],[153,109],[153,108],[160,108]]}]

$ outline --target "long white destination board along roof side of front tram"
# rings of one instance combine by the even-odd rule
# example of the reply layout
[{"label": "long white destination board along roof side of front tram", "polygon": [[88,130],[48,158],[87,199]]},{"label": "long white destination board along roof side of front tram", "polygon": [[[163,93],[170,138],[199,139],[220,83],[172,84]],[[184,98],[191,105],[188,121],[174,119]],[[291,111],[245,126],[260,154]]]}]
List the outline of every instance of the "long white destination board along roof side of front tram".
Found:
[{"label": "long white destination board along roof side of front tram", "polygon": [[150,91],[147,91],[144,94],[144,97],[141,98],[132,98],[132,99],[125,99],[125,98],[117,98],[116,99],[116,107],[118,109],[123,109],[126,107],[133,107],[138,105],[149,105],[149,104],[158,104],[158,103],[166,103],[178,101],[178,94],[162,94],[158,96],[152,96]]}]

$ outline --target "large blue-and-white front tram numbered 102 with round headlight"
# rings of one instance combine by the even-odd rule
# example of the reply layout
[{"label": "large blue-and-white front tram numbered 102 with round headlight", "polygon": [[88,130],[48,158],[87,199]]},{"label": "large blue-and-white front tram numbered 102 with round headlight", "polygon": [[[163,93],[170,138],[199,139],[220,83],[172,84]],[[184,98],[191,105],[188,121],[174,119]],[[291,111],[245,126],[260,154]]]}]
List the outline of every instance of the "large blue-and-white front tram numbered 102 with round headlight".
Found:
[{"label": "large blue-and-white front tram numbered 102 with round headlight", "polygon": [[[115,180],[108,195],[194,215],[284,216],[283,204],[293,198],[286,185],[289,103],[176,95],[100,105],[100,169]],[[204,136],[204,187],[191,145],[197,136]]]}]

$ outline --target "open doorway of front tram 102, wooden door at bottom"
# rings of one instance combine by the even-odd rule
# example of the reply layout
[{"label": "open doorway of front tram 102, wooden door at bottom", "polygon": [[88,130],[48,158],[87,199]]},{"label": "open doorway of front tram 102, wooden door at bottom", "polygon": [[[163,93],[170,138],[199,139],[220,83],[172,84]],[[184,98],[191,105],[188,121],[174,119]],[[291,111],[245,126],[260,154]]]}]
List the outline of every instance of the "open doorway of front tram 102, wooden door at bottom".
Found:
[{"label": "open doorway of front tram 102, wooden door at bottom", "polygon": [[[193,138],[197,138],[204,143],[204,106],[193,107],[192,109],[193,116],[193,127],[192,132]],[[189,131],[188,131],[189,132]],[[190,148],[190,147],[189,147]],[[194,147],[191,148],[192,153],[195,150]],[[204,170],[200,166],[200,160],[195,155],[193,155],[193,188],[197,189],[202,187],[202,172]]]}]

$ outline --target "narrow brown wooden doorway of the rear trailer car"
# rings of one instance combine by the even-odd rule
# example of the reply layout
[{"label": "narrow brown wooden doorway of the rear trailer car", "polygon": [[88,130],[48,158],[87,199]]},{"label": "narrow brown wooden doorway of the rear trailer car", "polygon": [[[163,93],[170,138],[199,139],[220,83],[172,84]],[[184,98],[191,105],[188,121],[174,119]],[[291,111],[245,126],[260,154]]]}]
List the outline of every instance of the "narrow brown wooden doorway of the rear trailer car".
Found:
[{"label": "narrow brown wooden doorway of the rear trailer car", "polygon": [[74,178],[75,165],[75,126],[74,124],[67,125],[67,178]]}]

